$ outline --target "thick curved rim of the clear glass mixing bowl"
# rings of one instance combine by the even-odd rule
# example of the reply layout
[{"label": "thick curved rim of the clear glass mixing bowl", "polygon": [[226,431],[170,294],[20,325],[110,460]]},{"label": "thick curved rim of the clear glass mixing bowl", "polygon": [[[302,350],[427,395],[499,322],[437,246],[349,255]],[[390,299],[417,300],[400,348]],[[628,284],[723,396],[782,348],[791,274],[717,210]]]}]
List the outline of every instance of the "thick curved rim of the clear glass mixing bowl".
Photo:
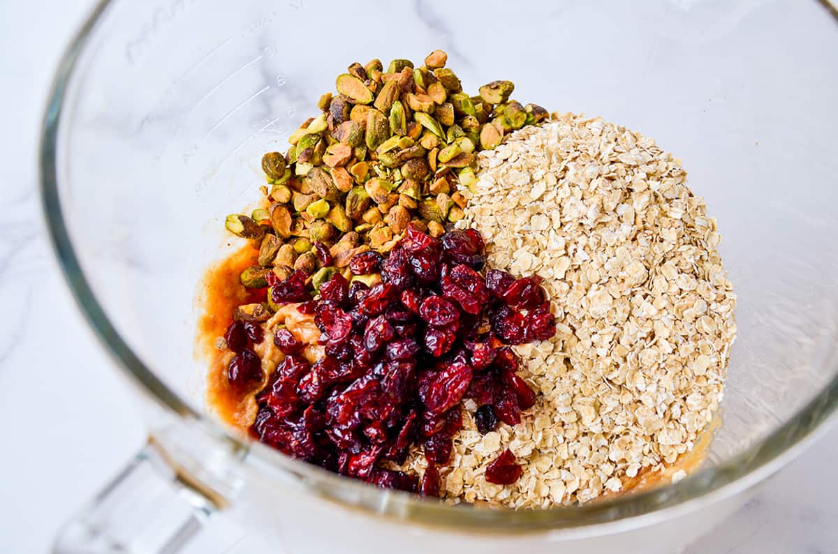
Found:
[{"label": "thick curved rim of the clear glass mixing bowl", "polygon": [[[838,408],[838,377],[827,383],[794,417],[768,433],[758,444],[721,464],[697,469],[677,483],[634,494],[615,495],[585,505],[557,506],[545,510],[511,510],[447,505],[437,500],[365,485],[291,459],[257,441],[244,439],[223,423],[196,412],[137,357],[108,320],[81,269],[61,210],[58,152],[59,128],[62,114],[66,110],[65,99],[72,81],[78,77],[75,70],[80,54],[85,51],[91,34],[101,25],[103,14],[114,2],[99,0],[91,10],[59,60],[49,90],[39,146],[39,188],[49,238],[76,304],[116,366],[163,408],[178,417],[194,420],[207,433],[230,444],[231,449],[244,453],[246,458],[262,461],[262,466],[279,469],[285,478],[292,476],[314,494],[337,501],[344,507],[398,516],[420,525],[484,533],[572,530],[604,524],[619,525],[629,520],[634,521],[632,526],[640,526],[649,520],[649,516],[660,521],[683,510],[709,505],[755,485],[794,459],[807,444],[814,441],[816,434],[825,430],[824,423],[835,415]],[[838,20],[838,13],[827,11]],[[816,430],[818,433],[815,433]],[[355,498],[362,500],[342,499],[334,494],[334,490],[352,493]]]}]

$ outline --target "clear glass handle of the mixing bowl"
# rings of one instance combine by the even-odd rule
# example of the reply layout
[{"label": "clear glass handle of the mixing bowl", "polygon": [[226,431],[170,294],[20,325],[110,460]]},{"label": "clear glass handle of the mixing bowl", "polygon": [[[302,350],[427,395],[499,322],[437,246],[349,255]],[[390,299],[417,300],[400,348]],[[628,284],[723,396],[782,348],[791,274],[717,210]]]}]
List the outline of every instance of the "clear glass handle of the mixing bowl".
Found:
[{"label": "clear glass handle of the mixing bowl", "polygon": [[236,457],[183,423],[149,437],[59,531],[54,554],[173,554],[228,505]]}]

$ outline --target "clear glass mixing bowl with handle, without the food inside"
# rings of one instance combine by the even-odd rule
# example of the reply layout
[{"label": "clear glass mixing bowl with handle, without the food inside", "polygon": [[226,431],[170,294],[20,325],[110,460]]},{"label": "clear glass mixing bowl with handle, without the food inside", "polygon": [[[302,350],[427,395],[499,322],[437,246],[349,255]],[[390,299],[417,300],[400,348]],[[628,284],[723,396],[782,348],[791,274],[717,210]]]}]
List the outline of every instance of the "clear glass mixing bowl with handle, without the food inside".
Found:
[{"label": "clear glass mixing bowl with handle, without the food inside", "polygon": [[[285,149],[350,62],[435,48],[468,90],[510,79],[520,100],[654,136],[718,218],[739,338],[723,426],[685,480],[582,507],[452,507],[327,474],[206,415],[196,284],[227,248],[225,214],[257,197],[261,153]],[[835,11],[815,1],[101,3],[49,99],[44,211],[81,310],[154,401],[152,439],[57,550],[163,551],[219,509],[292,551],[682,546],[835,412],[836,68]]]}]

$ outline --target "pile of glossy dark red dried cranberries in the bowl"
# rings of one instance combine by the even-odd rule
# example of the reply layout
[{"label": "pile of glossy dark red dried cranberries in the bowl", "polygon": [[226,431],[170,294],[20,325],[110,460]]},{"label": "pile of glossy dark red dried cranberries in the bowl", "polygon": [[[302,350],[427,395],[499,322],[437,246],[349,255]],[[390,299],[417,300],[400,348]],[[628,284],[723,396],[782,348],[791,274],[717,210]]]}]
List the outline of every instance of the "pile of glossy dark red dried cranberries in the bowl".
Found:
[{"label": "pile of glossy dark red dried cranberries in the bowl", "polygon": [[[363,278],[349,284],[334,274],[311,300],[301,272],[272,282],[275,303],[302,302],[297,310],[314,314],[327,356],[310,365],[298,356],[303,345],[289,331],[276,331],[287,356],[256,395],[252,432],[339,474],[437,495],[437,466],[449,462],[462,426],[460,401],[473,398],[480,406],[480,433],[498,421],[520,423],[535,392],[517,375],[520,361],[505,345],[556,332],[540,278],[516,280],[494,269],[483,275],[484,264],[477,231],[434,239],[411,226],[386,257],[365,252],[351,260],[354,275],[380,274],[371,288]],[[230,363],[236,375],[250,373],[245,352],[251,351]],[[385,460],[403,464],[412,444],[421,444],[427,459],[421,482],[382,467]],[[505,451],[486,479],[505,485],[519,476]]]}]

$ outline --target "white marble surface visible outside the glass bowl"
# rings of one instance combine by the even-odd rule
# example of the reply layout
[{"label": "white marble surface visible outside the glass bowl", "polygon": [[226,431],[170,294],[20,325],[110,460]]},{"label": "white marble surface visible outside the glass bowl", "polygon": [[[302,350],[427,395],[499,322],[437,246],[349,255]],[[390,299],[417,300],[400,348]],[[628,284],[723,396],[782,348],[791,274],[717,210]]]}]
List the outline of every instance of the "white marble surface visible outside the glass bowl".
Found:
[{"label": "white marble surface visible outside the glass bowl", "polygon": [[[144,439],[132,398],[51,259],[36,192],[44,94],[90,0],[0,3],[0,552],[44,552]],[[46,325],[44,325],[46,322]],[[838,428],[688,552],[838,552]],[[190,552],[251,551],[223,519]]]}]

